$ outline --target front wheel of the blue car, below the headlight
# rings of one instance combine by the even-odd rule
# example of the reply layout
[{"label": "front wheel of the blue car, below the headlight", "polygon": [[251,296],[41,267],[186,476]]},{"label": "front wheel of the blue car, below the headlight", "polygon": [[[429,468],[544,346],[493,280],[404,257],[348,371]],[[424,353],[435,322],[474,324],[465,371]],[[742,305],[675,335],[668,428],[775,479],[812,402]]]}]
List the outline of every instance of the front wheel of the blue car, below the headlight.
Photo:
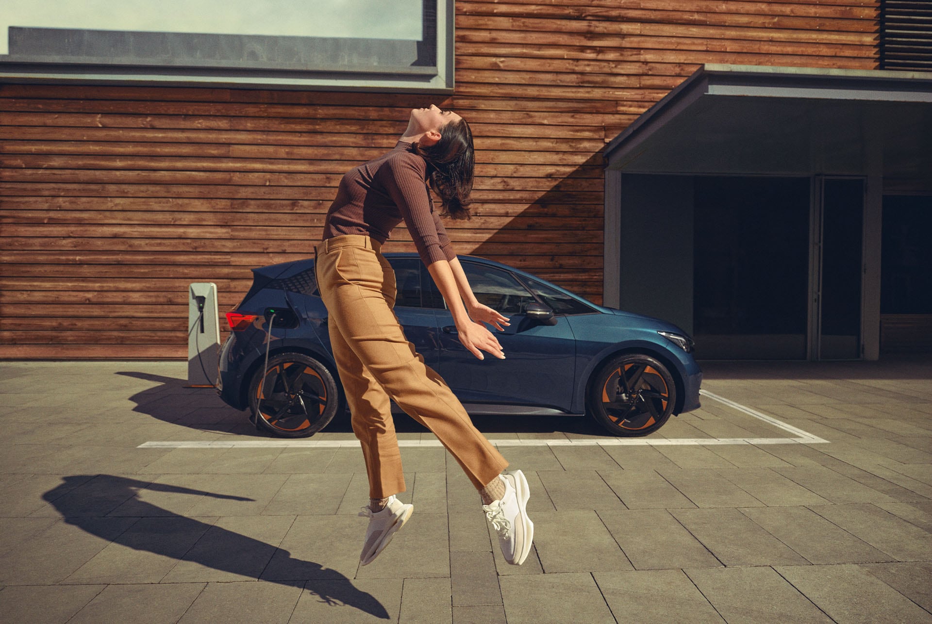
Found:
[{"label": "front wheel of the blue car, below the headlight", "polygon": [[677,403],[673,376],[658,359],[626,353],[603,366],[589,388],[589,413],[616,436],[646,436]]}]

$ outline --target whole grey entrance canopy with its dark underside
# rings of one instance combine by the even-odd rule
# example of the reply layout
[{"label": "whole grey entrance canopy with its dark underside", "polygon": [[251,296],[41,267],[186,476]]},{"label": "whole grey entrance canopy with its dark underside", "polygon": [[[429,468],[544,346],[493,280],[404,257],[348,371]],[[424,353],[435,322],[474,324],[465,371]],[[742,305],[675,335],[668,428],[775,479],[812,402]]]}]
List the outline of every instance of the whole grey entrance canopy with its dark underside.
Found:
[{"label": "whole grey entrance canopy with its dark underside", "polygon": [[706,64],[605,154],[625,173],[870,174],[932,189],[932,73]]}]

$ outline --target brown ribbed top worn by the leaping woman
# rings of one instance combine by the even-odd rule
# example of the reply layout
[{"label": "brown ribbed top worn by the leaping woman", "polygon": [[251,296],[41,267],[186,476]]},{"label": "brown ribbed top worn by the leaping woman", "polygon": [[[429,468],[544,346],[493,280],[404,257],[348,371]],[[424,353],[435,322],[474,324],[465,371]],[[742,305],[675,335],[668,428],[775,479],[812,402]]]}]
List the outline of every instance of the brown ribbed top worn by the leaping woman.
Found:
[{"label": "brown ribbed top worn by the leaping woman", "polygon": [[399,141],[388,154],[343,176],[323,222],[323,240],[362,234],[384,243],[403,220],[425,265],[456,258],[433,211],[427,163],[414,153],[413,143]]}]

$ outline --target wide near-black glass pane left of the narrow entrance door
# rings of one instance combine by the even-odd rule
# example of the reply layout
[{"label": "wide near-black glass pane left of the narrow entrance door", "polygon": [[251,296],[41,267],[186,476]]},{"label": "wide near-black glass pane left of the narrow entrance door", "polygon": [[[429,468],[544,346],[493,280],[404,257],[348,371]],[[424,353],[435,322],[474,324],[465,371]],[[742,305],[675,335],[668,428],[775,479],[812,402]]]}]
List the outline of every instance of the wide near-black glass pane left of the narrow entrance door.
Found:
[{"label": "wide near-black glass pane left of the narrow entrance door", "polygon": [[806,359],[810,178],[696,176],[699,359]]}]

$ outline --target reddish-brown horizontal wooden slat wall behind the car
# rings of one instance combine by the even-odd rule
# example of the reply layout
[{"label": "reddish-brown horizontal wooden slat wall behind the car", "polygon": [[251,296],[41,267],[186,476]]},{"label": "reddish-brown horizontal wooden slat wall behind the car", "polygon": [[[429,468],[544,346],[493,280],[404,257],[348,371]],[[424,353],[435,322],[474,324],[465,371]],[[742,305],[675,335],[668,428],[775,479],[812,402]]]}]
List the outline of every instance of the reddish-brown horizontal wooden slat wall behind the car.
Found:
[{"label": "reddish-brown horizontal wooden slat wall behind the car", "polygon": [[[872,69],[873,1],[459,1],[478,167],[459,253],[598,302],[601,150],[704,62]],[[311,253],[428,96],[0,85],[0,358],[185,358],[187,285]],[[404,230],[386,251],[413,251]]]}]

